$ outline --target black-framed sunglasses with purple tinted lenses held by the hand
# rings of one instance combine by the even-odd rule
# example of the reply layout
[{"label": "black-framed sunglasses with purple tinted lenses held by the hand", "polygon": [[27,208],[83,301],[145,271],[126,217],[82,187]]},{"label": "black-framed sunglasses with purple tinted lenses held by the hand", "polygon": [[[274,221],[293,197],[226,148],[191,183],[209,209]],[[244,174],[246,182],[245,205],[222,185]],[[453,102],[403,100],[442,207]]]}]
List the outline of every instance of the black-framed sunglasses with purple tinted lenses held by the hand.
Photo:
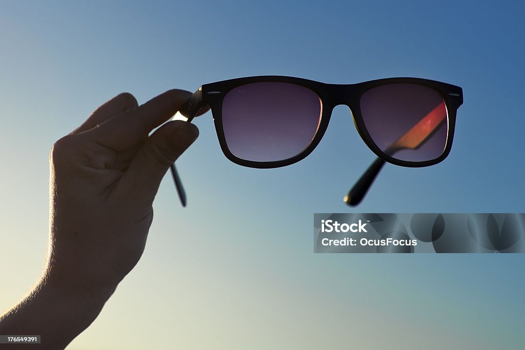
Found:
[{"label": "black-framed sunglasses with purple tinted lenses held by the hand", "polygon": [[[358,205],[385,162],[422,167],[443,161],[454,138],[460,87],[419,78],[327,84],[261,76],[204,84],[180,113],[191,122],[211,108],[220,148],[232,162],[277,168],[307,157],[321,141],[335,106],[348,105],[354,125],[377,160],[344,197]],[[181,203],[186,194],[171,166]]]}]

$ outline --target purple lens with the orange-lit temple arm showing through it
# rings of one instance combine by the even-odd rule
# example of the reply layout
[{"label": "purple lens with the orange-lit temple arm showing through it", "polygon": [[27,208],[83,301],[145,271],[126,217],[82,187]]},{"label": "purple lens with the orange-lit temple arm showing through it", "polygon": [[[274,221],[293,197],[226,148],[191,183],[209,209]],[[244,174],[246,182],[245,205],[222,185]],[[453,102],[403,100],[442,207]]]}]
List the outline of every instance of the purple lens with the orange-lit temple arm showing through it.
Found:
[{"label": "purple lens with the orange-lit temple arm showing through it", "polygon": [[366,91],[361,114],[374,143],[402,161],[424,162],[445,151],[448,118],[434,89],[418,84],[387,84]]}]

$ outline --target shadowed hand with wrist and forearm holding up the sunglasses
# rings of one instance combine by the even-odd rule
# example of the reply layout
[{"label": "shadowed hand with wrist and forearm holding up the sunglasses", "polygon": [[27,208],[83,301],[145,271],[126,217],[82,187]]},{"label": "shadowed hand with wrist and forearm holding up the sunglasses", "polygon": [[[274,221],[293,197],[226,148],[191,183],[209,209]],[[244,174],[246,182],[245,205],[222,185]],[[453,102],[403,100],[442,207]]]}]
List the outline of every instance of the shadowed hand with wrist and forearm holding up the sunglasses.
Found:
[{"label": "shadowed hand with wrist and forearm holding up the sunglasses", "polygon": [[170,90],[139,107],[122,93],[53,145],[46,268],[0,334],[40,334],[39,348],[58,349],[95,320],[144,251],[162,177],[198,136],[182,121],[149,133],[190,96]]}]

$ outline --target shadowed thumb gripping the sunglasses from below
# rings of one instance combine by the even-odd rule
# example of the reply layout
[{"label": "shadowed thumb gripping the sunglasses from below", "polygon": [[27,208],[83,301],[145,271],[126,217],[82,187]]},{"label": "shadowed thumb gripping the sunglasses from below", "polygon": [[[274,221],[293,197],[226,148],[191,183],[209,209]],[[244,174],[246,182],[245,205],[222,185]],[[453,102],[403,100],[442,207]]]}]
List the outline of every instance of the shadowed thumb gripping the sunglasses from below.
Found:
[{"label": "shadowed thumb gripping the sunglasses from below", "polygon": [[197,139],[195,125],[183,121],[168,122],[145,140],[130,166],[120,178],[116,191],[133,198],[153,201],[167,169]]}]

